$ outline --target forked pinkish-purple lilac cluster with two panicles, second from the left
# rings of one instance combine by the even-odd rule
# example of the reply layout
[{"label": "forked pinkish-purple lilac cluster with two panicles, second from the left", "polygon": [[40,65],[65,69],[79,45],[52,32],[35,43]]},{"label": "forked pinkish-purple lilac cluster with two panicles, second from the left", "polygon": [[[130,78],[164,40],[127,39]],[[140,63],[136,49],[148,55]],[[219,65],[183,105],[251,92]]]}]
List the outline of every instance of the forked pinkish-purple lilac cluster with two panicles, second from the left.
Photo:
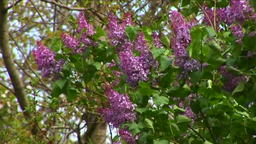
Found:
[{"label": "forked pinkish-purple lilac cluster with two panicles, second from the left", "polygon": [[77,39],[75,39],[75,37],[69,36],[66,33],[61,34],[61,39],[64,45],[67,48],[72,49],[71,51],[72,54],[83,53],[85,51],[85,48],[88,46],[97,46],[96,42],[93,42],[93,40],[88,38],[94,35],[95,32],[93,32],[91,25],[88,24],[88,22],[86,21],[83,12],[79,13],[77,23],[78,23],[77,32],[80,33],[84,28],[86,28],[86,31],[83,32],[80,37],[80,42],[84,44],[83,46],[80,44],[80,42]]}]

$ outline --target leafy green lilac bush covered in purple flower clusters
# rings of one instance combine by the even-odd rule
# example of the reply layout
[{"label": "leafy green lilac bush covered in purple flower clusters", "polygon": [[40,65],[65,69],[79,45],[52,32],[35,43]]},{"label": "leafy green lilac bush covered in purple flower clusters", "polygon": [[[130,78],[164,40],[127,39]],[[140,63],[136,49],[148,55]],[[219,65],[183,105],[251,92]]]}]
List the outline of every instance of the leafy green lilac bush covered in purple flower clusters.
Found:
[{"label": "leafy green lilac bush covered in purple flower clusters", "polygon": [[73,34],[38,41],[51,109],[61,99],[85,105],[108,123],[112,144],[256,143],[256,3],[177,3],[147,25],[110,11],[107,31],[80,12]]}]

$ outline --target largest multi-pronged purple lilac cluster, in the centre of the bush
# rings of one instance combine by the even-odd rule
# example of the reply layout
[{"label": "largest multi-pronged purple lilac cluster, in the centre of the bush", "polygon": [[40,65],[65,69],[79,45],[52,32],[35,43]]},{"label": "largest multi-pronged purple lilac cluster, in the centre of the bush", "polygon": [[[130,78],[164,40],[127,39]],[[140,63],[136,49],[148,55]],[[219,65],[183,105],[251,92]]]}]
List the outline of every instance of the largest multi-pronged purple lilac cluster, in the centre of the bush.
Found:
[{"label": "largest multi-pronged purple lilac cluster, in the centre of the bush", "polygon": [[[139,80],[148,80],[147,76],[150,74],[150,67],[157,65],[157,63],[153,59],[149,45],[142,32],[139,32],[134,42],[128,41],[128,37],[125,35],[125,27],[132,24],[130,13],[125,13],[123,25],[117,24],[115,16],[112,13],[109,14],[108,27],[110,43],[117,48],[117,54],[120,60],[119,67],[127,75],[127,82],[131,86],[135,86],[139,83]],[[154,43],[160,46],[159,38]],[[134,56],[134,51],[139,51],[140,55]]]}]

